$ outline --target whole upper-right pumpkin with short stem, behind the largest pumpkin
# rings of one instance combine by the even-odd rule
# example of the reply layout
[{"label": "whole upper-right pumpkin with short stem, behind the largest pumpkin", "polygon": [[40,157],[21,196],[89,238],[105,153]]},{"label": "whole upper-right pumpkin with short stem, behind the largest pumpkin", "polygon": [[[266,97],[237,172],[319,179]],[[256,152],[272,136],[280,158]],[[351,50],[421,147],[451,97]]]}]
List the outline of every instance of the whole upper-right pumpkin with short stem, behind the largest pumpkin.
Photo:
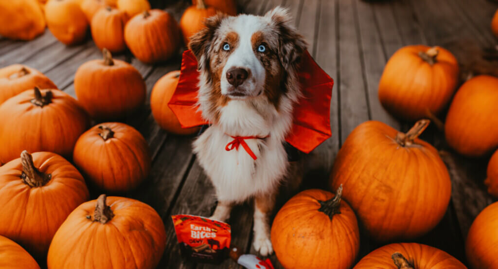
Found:
[{"label": "whole upper-right pumpkin with short stem, behind the largest pumpkin", "polygon": [[437,114],[450,101],[458,82],[458,63],[441,47],[400,48],[384,67],[378,98],[393,116],[408,121]]}]

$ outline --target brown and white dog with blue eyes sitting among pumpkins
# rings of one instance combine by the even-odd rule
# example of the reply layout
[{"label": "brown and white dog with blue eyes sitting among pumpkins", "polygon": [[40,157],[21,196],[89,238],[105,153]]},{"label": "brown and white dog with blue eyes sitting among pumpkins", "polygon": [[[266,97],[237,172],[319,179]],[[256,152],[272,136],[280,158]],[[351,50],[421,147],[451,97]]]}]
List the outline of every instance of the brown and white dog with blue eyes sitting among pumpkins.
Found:
[{"label": "brown and white dog with blue eyes sitting among pumpkins", "polygon": [[[306,43],[287,10],[275,7],[264,16],[213,16],[189,47],[199,65],[202,116],[212,123],[194,142],[218,197],[211,218],[225,221],[235,203],[254,198],[253,246],[269,255],[277,190],[283,181],[300,182],[283,142],[300,97],[296,69]],[[250,137],[242,141],[249,150],[226,150],[236,136]]]}]

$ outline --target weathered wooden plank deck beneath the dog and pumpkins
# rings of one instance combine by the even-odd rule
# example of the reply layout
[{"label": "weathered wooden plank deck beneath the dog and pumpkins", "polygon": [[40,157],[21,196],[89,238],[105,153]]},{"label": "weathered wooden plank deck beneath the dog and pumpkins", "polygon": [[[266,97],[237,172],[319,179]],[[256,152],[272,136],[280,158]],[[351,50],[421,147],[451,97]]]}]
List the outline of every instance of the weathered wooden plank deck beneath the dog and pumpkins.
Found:
[{"label": "weathered wooden plank deck beneath the dog and pumpkins", "polygon": [[[166,9],[179,20],[186,2],[174,3]],[[389,116],[377,99],[377,85],[384,64],[398,48],[419,43],[443,46],[452,51],[464,67],[471,63],[471,53],[497,43],[490,22],[498,4],[487,0],[239,0],[240,10],[254,14],[263,14],[276,5],[290,8],[296,27],[309,43],[311,55],[335,80],[330,111],[333,136],[306,156],[306,185],[303,188],[327,188],[339,147],[360,123],[378,120],[403,131],[409,128],[409,124]],[[48,30],[30,42],[0,37],[0,68],[14,63],[36,68],[73,96],[76,69],[84,62],[100,57],[101,52],[92,40],[68,47]],[[178,69],[181,61],[178,55],[163,64],[145,65],[129,52],[117,58],[125,59],[140,71],[149,96],[157,79]],[[444,119],[444,115],[440,117]],[[150,204],[164,221],[168,243],[158,268],[239,268],[228,260],[215,267],[186,262],[180,257],[170,215],[210,216],[216,205],[213,187],[191,152],[193,137],[162,131],[154,123],[148,101],[146,108],[125,123],[144,135],[152,152],[150,176],[126,196]],[[466,159],[456,155],[434,125],[422,139],[441,150],[450,170],[453,190],[442,222],[416,242],[440,248],[465,263],[467,231],[475,216],[493,201],[483,184],[488,158]],[[98,194],[93,191],[92,197]],[[233,245],[254,252],[251,249],[250,206],[236,207],[229,223]],[[377,247],[362,234],[359,259]],[[275,268],[282,268],[274,255],[271,260]]]}]

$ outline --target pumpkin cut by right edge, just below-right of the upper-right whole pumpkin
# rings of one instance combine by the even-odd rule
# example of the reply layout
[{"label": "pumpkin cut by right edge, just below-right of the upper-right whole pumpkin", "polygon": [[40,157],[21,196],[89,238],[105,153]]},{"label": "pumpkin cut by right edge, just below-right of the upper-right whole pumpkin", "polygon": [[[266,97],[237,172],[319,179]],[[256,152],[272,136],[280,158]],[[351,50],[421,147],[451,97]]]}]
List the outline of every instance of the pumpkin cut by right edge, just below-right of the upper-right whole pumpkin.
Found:
[{"label": "pumpkin cut by right edge, just below-right of the upper-right whole pumpkin", "polygon": [[482,156],[498,147],[498,78],[481,75],[465,82],[450,105],[445,135],[466,156]]}]

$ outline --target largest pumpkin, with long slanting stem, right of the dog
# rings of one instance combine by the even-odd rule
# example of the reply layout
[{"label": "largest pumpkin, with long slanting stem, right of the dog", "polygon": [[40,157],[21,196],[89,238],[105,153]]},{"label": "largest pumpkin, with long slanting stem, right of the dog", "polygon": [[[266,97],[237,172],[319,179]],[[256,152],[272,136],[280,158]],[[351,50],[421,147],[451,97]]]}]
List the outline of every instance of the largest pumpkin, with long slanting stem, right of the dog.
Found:
[{"label": "largest pumpkin, with long slanting stem, right of the dog", "polygon": [[428,124],[421,120],[404,134],[368,121],[355,128],[339,150],[331,186],[344,185],[344,199],[377,241],[419,237],[446,212],[451,194],[448,170],[438,151],[417,138]]}]

